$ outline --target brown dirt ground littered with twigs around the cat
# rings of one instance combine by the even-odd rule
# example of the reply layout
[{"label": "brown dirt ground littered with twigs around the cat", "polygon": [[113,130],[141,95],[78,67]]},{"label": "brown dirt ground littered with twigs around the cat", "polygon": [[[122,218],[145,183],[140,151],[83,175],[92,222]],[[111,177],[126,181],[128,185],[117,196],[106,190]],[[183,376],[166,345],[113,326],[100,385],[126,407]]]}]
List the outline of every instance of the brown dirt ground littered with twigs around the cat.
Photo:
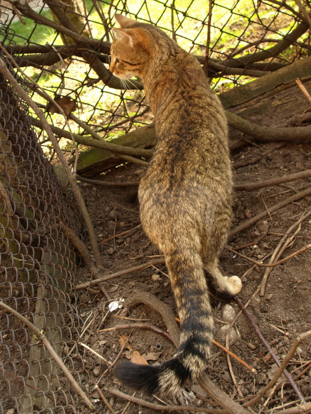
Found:
[{"label": "brown dirt ground littered with twigs around the cat", "polygon": [[[287,175],[310,168],[311,144],[310,143],[287,143],[279,149],[274,149],[276,143],[248,144],[242,148],[232,151],[232,162],[237,165],[234,169],[235,183],[255,182],[276,176]],[[259,158],[265,151],[271,152],[262,156],[257,162],[238,168],[237,163],[241,161],[252,161]],[[143,174],[143,167],[131,164],[120,166],[108,171],[103,180],[107,181],[134,181]],[[266,211],[270,206],[289,197],[290,195],[309,188],[310,179],[303,179],[286,184],[276,185],[251,192],[235,192],[233,195],[234,219],[232,229],[246,222],[251,217]],[[139,226],[137,188],[116,188],[94,186],[83,184],[86,190],[87,207],[93,218],[95,232],[98,242],[102,242],[113,235],[131,231],[123,237],[116,237],[106,241],[100,247],[101,256],[105,267],[104,274],[115,273],[130,267],[145,263],[150,257],[157,258],[161,253],[152,246],[143,230]],[[310,211],[311,197],[289,203],[285,208],[277,210],[271,215],[257,222],[248,229],[229,238],[228,246],[239,253],[256,261],[268,263],[270,256],[284,233],[297,222],[306,212]],[[138,226],[138,227],[137,227]],[[280,259],[294,253],[301,247],[308,245],[311,239],[311,216],[306,218],[301,227],[295,227],[290,234],[298,229],[289,246],[280,256]],[[268,256],[267,259],[265,259]],[[253,315],[266,341],[272,346],[277,356],[282,359],[290,349],[298,333],[307,331],[311,327],[311,250],[306,250],[283,264],[273,268],[268,276],[265,294],[259,293],[252,298],[248,310]],[[243,281],[243,289],[239,294],[240,300],[245,304],[256,291],[261,283],[265,268],[254,265],[246,259],[239,257],[228,250],[224,250],[221,256],[221,267],[226,275],[238,275]],[[111,279],[104,283],[108,295],[114,298],[128,298],[137,291],[145,291],[155,295],[164,303],[170,305],[176,314],[176,306],[171,290],[169,279],[166,276],[165,265],[159,268],[149,267],[143,271],[130,273],[123,277]],[[77,280],[88,281],[90,275],[80,269]],[[166,330],[159,313],[151,310],[145,305],[131,309],[109,312],[107,297],[98,286],[93,286],[87,293],[85,290],[78,291],[80,297],[80,310],[87,318],[91,310],[93,313],[93,325],[88,336],[88,345],[113,362],[120,352],[120,346],[124,344],[124,337],[128,339],[127,345],[118,360],[144,356],[148,363],[162,362],[170,358],[174,353],[174,345],[163,335],[144,329],[108,330],[115,325],[137,322],[137,319],[147,319],[149,323],[156,325],[161,330]],[[224,331],[228,327],[224,318],[225,303],[212,298],[215,317],[215,339],[225,345]],[[231,312],[237,314],[239,306],[231,302]],[[94,316],[95,315],[95,316]],[[176,316],[178,316],[176,314]],[[132,319],[124,319],[132,318]],[[145,321],[143,321],[145,322]],[[108,329],[107,329],[108,328]],[[103,330],[104,331],[101,331]],[[235,376],[233,382],[229,371],[227,355],[218,347],[214,347],[207,373],[209,377],[231,398],[239,403],[246,402],[250,396],[255,395],[273,376],[275,363],[269,359],[267,350],[258,339],[249,319],[240,315],[237,319],[230,336],[230,350],[256,369],[251,373],[240,362],[231,358],[232,373]],[[81,350],[83,352],[83,350]],[[133,391],[123,386],[114,378],[113,371],[107,370],[107,365],[101,363],[99,358],[84,351],[85,369],[81,372],[82,383],[87,383],[90,397],[100,412],[105,409],[98,391],[93,386],[98,383],[106,397],[110,393],[106,388],[119,388],[121,391],[133,395]],[[311,399],[311,347],[310,341],[302,343],[298,352],[290,360],[287,367],[293,376],[302,374],[296,379],[302,394],[306,400]],[[306,370],[304,370],[307,368]],[[217,407],[207,394],[199,386],[193,387],[188,383],[185,389],[189,392],[194,390],[193,400],[189,396],[189,404],[192,406]],[[196,397],[195,397],[196,395]],[[136,396],[141,397],[139,393]],[[155,398],[146,398],[148,401],[158,402]],[[253,412],[277,412],[273,410],[276,406],[290,407],[298,402],[297,395],[285,384],[282,388],[277,387],[260,403],[255,404]],[[166,403],[184,403],[185,401],[165,399]],[[134,403],[127,406],[127,401],[116,397],[111,400],[115,412],[127,413],[153,413],[151,408],[142,407]],[[211,405],[208,405],[210,403]],[[125,409],[126,408],[126,409]],[[165,411],[163,411],[165,412]]]}]

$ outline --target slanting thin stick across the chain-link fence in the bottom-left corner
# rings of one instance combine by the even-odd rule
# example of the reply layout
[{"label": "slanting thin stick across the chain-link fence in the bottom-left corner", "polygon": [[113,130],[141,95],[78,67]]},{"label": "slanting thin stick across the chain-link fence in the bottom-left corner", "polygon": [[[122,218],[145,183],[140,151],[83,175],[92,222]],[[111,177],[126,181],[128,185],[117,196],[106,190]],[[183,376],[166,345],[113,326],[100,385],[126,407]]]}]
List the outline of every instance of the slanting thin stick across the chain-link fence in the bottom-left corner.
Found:
[{"label": "slanting thin stick across the chain-link fence in the bottom-left corner", "polygon": [[67,366],[62,361],[61,357],[57,354],[51,343],[48,341],[46,336],[41,333],[40,329],[38,329],[32,322],[30,322],[28,319],[26,319],[23,315],[21,315],[19,312],[17,312],[15,309],[13,309],[11,306],[7,305],[6,303],[0,301],[0,307],[3,309],[6,309],[6,311],[10,312],[12,315],[14,315],[17,319],[22,321],[26,326],[28,326],[29,329],[32,330],[32,332],[37,335],[38,341],[42,342],[43,345],[47,348],[47,350],[50,352],[53,359],[58,363],[64,374],[69,379],[70,383],[74,387],[74,389],[77,391],[77,393],[81,396],[81,398],[84,400],[88,408],[93,411],[94,407],[92,402],[89,400],[86,393],[83,391],[83,389],[80,387],[80,385],[77,383],[77,381],[72,376],[71,372],[67,368]]}]

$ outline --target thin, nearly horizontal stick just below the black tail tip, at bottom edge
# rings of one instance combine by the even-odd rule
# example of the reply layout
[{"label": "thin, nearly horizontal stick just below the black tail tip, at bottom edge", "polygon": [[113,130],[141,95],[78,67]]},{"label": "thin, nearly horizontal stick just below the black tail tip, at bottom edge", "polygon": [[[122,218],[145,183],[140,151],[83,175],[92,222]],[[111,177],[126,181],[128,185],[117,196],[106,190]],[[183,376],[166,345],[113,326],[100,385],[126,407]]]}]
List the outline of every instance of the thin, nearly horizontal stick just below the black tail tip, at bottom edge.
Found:
[{"label": "thin, nearly horizontal stick just below the black tail tip, at bottom edge", "polygon": [[[134,402],[135,404],[143,405],[148,408],[153,408],[156,410],[160,410],[162,412],[164,411],[195,411],[195,412],[207,412],[211,414],[227,414],[227,410],[218,409],[218,408],[203,408],[203,407],[192,407],[190,405],[173,405],[173,404],[157,404],[154,402],[145,401],[144,399],[133,397],[131,395],[125,394],[124,392],[121,392],[117,389],[112,388],[105,388],[108,392],[111,394],[116,395],[117,397],[124,398],[128,401]],[[246,411],[249,414],[249,411]],[[235,412],[237,414],[237,411]]]}]

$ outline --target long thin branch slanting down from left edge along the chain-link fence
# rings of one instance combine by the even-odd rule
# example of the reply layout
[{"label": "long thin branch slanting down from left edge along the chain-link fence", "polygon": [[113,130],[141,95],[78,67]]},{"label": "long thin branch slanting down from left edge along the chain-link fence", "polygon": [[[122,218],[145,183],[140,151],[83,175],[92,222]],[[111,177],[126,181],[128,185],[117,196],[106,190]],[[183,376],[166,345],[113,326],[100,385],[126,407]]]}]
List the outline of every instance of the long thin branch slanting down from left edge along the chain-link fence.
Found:
[{"label": "long thin branch slanting down from left edge along the chain-link fence", "polygon": [[[5,62],[3,60],[0,59],[0,72],[3,73],[3,75],[9,80],[9,82],[11,83],[11,85],[14,87],[14,89],[17,91],[17,93],[22,97],[22,99],[24,99],[24,101],[34,110],[34,112],[36,113],[36,115],[40,118],[40,121],[43,125],[43,128],[46,130],[50,141],[52,142],[55,151],[57,153],[57,156],[62,164],[62,167],[65,171],[65,174],[68,178],[68,181],[71,185],[72,191],[74,193],[74,196],[76,198],[77,204],[79,205],[79,208],[81,210],[81,213],[83,215],[84,221],[85,221],[85,225],[86,228],[88,230],[89,233],[89,237],[90,237],[90,242],[91,242],[91,246],[92,246],[92,251],[94,254],[94,258],[96,261],[97,265],[101,264],[101,256],[99,254],[99,250],[98,250],[98,246],[97,246],[97,240],[96,240],[96,236],[94,233],[94,228],[90,219],[90,216],[88,214],[88,211],[86,209],[84,200],[82,198],[81,192],[80,192],[80,188],[77,184],[77,181],[75,179],[75,177],[73,176],[73,174],[70,171],[70,168],[67,164],[66,158],[63,154],[63,151],[61,150],[57,139],[55,138],[55,135],[53,133],[53,131],[51,130],[43,112],[41,109],[39,109],[39,107],[37,106],[37,104],[35,104],[35,102],[30,98],[30,96],[27,94],[27,92],[20,86],[20,84],[17,82],[17,80],[15,79],[15,77],[12,75],[12,73],[9,71],[9,69],[7,68]],[[69,134],[70,135],[70,134]]]}]

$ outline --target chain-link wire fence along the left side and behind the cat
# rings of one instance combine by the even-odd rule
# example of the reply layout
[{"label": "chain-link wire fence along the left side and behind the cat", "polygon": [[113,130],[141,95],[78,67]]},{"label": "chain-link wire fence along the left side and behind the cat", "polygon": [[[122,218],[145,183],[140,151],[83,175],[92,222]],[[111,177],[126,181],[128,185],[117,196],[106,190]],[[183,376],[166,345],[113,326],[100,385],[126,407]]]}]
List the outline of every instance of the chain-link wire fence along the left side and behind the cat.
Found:
[{"label": "chain-link wire fence along the left side and behind the cat", "polygon": [[[151,119],[139,81],[122,90],[108,71],[115,12],[166,30],[202,64],[207,63],[211,85],[218,92],[290,65],[311,51],[309,10],[299,9],[294,1],[68,3],[66,7],[58,0],[0,2],[2,45],[21,70],[4,50],[2,59],[45,109],[51,125],[66,129],[40,88],[68,114],[74,110],[109,140]],[[64,349],[79,340],[79,310],[72,287],[80,259],[63,229],[67,226],[84,241],[84,225],[70,188],[58,180],[50,164],[54,149],[46,132],[32,126],[34,114],[3,76],[0,96],[1,300],[43,330],[79,381],[79,369],[85,369],[79,354],[66,357]],[[73,132],[87,135],[81,123],[69,122]],[[71,162],[72,145],[66,141],[63,148]],[[11,408],[77,411],[78,397],[71,396],[68,381],[44,346],[3,310],[0,378],[2,413]]]}]

